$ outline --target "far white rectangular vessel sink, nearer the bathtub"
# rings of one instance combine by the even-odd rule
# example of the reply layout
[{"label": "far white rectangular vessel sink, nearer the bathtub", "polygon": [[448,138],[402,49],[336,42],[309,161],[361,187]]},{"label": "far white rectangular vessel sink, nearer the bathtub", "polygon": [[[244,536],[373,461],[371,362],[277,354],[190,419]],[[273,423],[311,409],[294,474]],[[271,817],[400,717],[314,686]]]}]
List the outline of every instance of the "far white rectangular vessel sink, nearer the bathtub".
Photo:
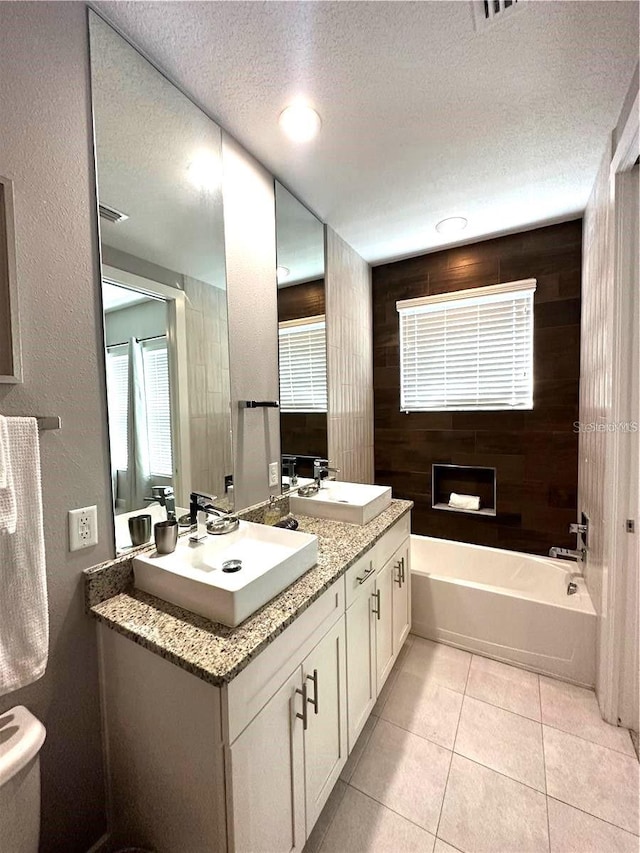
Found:
[{"label": "far white rectangular vessel sink, nearer the bathtub", "polygon": [[389,486],[367,486],[324,480],[320,491],[308,498],[292,495],[291,512],[329,518],[350,524],[368,524],[391,504]]}]

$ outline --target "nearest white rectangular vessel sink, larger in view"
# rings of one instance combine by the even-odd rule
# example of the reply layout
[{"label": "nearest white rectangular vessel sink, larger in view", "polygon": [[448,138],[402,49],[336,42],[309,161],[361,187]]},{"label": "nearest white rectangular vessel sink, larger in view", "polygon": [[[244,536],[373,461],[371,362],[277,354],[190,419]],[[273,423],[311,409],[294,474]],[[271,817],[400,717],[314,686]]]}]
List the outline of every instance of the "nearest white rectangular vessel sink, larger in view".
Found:
[{"label": "nearest white rectangular vessel sink, larger in view", "polygon": [[[229,560],[241,568],[229,571]],[[133,571],[138,589],[235,627],[317,562],[316,536],[241,521],[198,544],[183,537],[173,554],[134,557]]]}]

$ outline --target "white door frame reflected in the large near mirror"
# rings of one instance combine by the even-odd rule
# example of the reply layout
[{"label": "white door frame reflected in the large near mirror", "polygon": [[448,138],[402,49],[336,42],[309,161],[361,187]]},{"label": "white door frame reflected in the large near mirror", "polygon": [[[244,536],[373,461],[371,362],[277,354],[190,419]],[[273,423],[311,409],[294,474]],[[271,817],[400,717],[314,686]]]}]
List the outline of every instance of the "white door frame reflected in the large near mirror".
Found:
[{"label": "white door frame reflected in the large near mirror", "polygon": [[167,303],[167,348],[171,404],[173,490],[177,506],[189,505],[191,441],[189,431],[189,361],[187,356],[187,297],[182,290],[143,278],[117,267],[102,265],[102,281],[158,296]]}]

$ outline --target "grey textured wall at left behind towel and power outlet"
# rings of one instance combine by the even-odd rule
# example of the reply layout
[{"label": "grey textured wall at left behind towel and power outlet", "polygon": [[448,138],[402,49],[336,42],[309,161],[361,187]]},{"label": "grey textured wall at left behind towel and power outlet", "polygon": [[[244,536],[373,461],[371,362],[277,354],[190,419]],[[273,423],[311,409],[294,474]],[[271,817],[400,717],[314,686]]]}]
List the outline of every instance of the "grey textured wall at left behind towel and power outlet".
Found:
[{"label": "grey textured wall at left behind towel and power outlet", "polygon": [[[15,181],[24,362],[24,384],[0,386],[0,412],[63,424],[41,436],[49,665],[0,698],[0,712],[24,704],[46,726],[41,850],[65,853],[86,851],[105,829],[81,571],[113,553],[86,28],[82,3],[0,3],[0,173]],[[67,510],[90,504],[100,544],[70,554]]]}]

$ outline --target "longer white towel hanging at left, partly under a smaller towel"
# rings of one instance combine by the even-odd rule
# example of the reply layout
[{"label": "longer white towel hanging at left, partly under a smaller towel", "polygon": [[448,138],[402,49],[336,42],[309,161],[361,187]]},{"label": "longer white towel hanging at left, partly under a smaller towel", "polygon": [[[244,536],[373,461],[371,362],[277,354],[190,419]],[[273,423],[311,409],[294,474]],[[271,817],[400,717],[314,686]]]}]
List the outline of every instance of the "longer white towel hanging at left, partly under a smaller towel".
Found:
[{"label": "longer white towel hanging at left, partly under a smaller towel", "polygon": [[0,696],[40,678],[49,650],[38,424],[6,425],[17,522],[0,531]]}]

